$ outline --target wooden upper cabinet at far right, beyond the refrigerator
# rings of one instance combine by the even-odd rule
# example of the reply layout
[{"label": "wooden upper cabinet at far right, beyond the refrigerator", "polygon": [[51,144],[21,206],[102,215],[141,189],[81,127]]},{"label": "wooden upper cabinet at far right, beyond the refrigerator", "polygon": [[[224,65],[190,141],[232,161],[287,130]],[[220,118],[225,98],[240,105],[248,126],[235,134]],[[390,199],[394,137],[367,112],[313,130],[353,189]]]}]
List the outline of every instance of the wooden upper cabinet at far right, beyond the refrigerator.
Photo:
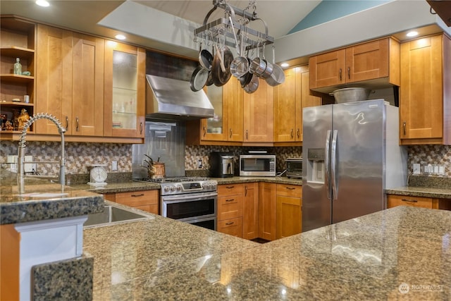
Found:
[{"label": "wooden upper cabinet at far right, beyond the refrigerator", "polygon": [[400,144],[451,145],[451,40],[401,44]]}]

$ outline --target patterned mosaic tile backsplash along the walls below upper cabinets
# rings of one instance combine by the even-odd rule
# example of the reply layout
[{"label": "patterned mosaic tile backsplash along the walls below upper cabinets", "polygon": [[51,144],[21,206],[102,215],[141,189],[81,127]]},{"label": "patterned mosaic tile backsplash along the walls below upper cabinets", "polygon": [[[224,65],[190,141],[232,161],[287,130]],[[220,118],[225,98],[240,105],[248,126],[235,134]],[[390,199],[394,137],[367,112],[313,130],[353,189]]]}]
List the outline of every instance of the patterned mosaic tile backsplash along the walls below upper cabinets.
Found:
[{"label": "patterned mosaic tile backsplash along the walls below upper cabinets", "polygon": [[[0,142],[0,164],[5,164],[7,155],[16,155],[18,142]],[[87,173],[87,164],[106,164],[111,172],[111,162],[118,162],[119,173],[132,172],[132,145],[112,143],[80,143],[66,142],[66,173]],[[209,168],[210,152],[232,152],[235,163],[240,154],[247,152],[249,147],[223,147],[223,146],[185,146],[185,169],[199,169],[199,159],[202,168]],[[265,148],[262,148],[265,149]],[[302,156],[302,147],[268,147],[268,152],[276,154],[277,171],[285,168],[285,159]],[[35,161],[58,161],[61,154],[58,142],[27,142],[26,155],[33,156]],[[412,173],[413,164],[440,164],[445,166],[445,177],[451,178],[451,146],[448,145],[414,145],[408,147],[409,173]],[[37,172],[43,175],[57,174],[58,165],[38,164]]]}]

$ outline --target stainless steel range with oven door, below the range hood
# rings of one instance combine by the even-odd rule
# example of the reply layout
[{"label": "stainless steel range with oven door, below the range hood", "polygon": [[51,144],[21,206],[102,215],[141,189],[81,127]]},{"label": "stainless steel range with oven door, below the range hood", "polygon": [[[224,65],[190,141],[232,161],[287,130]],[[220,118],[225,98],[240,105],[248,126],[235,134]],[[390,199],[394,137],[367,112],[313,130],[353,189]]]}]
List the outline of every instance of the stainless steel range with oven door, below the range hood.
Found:
[{"label": "stainless steel range with oven door, below the range hood", "polygon": [[175,177],[140,181],[160,184],[161,216],[216,230],[218,200],[218,182],[216,180]]}]

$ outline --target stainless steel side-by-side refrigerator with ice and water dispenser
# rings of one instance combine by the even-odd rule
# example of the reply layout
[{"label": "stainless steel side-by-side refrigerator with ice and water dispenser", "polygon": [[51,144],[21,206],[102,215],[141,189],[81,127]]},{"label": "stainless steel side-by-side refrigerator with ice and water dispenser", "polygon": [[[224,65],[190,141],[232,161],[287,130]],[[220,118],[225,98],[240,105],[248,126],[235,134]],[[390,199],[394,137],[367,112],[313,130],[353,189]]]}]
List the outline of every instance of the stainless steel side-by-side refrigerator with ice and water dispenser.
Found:
[{"label": "stainless steel side-by-side refrigerator with ice and water dispenser", "polygon": [[386,208],[407,183],[398,108],[384,99],[304,108],[302,231]]}]

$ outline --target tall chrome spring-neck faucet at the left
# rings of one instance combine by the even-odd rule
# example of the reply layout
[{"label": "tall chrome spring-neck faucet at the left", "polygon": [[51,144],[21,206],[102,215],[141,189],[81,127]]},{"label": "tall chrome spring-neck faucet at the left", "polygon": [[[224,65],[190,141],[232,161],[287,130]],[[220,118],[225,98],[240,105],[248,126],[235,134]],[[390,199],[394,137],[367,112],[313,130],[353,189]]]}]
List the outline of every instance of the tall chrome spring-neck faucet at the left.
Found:
[{"label": "tall chrome spring-neck faucet at the left", "polygon": [[[66,132],[66,128],[63,128],[61,123],[58,121],[58,119],[55,116],[50,115],[49,113],[37,113],[34,116],[30,118],[24,125],[23,130],[20,135],[19,140],[19,147],[18,147],[18,173],[17,173],[17,180],[18,185],[20,187],[20,193],[23,193],[24,188],[24,175],[25,175],[25,137],[27,137],[27,130],[30,128],[32,123],[37,121],[38,119],[49,119],[49,121],[52,121],[55,123],[56,127],[58,128],[58,133],[61,135],[61,161],[60,168],[59,168],[59,180],[61,185],[65,185],[65,166],[66,161],[64,159],[64,132]],[[28,162],[27,163],[58,163],[58,162]],[[35,178],[49,178],[49,176],[35,176]]]}]

